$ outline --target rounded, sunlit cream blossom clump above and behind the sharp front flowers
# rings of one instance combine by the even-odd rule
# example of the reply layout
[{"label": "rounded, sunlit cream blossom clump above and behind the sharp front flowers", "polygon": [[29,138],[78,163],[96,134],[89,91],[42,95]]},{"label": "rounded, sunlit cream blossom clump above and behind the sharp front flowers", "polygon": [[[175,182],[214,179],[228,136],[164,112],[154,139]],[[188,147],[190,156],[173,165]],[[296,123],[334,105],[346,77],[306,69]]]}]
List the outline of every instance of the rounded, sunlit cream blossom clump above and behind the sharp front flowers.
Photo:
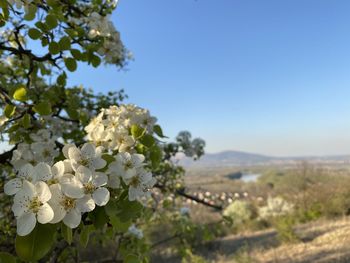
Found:
[{"label": "rounded, sunlit cream blossom clump above and behind the sharp front flowers", "polygon": [[157,119],[149,111],[133,104],[112,106],[103,109],[88,126],[85,127],[87,139],[96,145],[119,152],[133,152],[135,139],[130,133],[133,125],[153,131]]}]

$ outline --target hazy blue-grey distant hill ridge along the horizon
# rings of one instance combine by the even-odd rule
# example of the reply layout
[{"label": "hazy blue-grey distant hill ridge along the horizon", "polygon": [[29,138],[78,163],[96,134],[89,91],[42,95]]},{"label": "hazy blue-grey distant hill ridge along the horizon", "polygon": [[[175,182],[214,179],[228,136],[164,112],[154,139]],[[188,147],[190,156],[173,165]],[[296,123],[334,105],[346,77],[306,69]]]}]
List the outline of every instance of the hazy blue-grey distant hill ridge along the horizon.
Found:
[{"label": "hazy blue-grey distant hill ridge along the horizon", "polygon": [[309,161],[312,163],[350,163],[349,155],[338,156],[300,156],[300,157],[273,157],[262,154],[247,153],[241,151],[224,151],[219,153],[208,153],[198,161],[180,156],[177,158],[179,164],[185,167],[227,167],[227,166],[250,166],[295,163]]}]

